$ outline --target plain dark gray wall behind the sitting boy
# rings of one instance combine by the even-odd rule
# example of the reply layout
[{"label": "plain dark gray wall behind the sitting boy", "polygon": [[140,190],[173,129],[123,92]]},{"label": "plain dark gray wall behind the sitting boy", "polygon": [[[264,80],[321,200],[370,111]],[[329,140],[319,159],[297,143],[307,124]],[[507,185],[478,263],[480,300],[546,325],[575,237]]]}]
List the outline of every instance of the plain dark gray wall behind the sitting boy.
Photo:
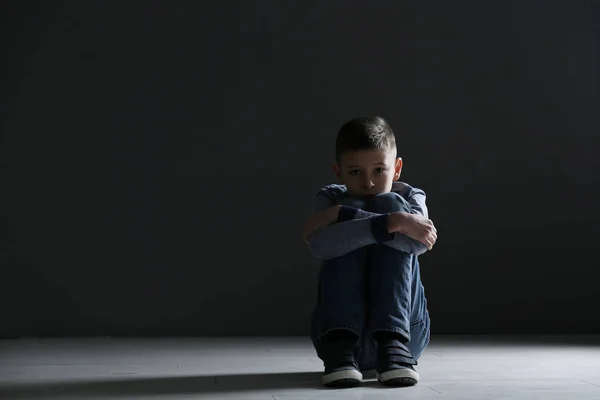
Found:
[{"label": "plain dark gray wall behind the sitting boy", "polygon": [[307,334],[299,227],[374,114],[434,333],[600,332],[589,1],[2,7],[1,336]]}]

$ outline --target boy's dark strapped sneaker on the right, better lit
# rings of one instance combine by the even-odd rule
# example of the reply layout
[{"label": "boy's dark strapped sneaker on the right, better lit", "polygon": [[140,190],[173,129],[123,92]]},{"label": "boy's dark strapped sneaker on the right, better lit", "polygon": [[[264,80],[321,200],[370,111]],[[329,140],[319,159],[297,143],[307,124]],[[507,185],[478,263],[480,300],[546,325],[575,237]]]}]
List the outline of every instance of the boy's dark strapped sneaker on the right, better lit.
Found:
[{"label": "boy's dark strapped sneaker on the right, better lit", "polygon": [[417,362],[399,340],[377,343],[377,380],[387,386],[413,386],[419,382]]}]

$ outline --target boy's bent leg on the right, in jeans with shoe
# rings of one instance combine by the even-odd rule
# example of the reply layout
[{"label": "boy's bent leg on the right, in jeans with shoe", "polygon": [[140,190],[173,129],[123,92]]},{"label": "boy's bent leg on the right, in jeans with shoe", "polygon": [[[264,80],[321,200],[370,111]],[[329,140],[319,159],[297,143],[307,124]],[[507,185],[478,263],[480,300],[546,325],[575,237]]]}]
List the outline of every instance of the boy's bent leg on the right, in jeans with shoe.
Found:
[{"label": "boy's bent leg on the right, in jeans with shoe", "polygon": [[[397,193],[375,196],[372,212],[410,211]],[[429,342],[429,314],[417,257],[384,244],[369,247],[369,319],[375,339],[378,378],[410,385],[419,376],[413,365]]]}]

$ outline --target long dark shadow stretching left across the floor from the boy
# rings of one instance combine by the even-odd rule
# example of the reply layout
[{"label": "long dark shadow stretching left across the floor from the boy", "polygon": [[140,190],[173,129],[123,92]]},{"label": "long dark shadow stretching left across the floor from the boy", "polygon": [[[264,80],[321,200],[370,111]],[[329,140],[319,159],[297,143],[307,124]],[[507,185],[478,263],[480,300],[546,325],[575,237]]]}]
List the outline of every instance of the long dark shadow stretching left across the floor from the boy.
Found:
[{"label": "long dark shadow stretching left across the floor from the boy", "polygon": [[[0,384],[0,398],[12,399],[35,396],[36,399],[66,399],[157,395],[217,395],[236,392],[289,389],[325,389],[321,386],[321,372],[294,372],[279,374],[241,374],[182,377],[105,377],[98,380],[22,382]],[[365,375],[365,379],[370,377]],[[375,385],[365,381],[363,386]],[[331,390],[331,389],[325,389]],[[343,390],[343,389],[342,389]]]}]

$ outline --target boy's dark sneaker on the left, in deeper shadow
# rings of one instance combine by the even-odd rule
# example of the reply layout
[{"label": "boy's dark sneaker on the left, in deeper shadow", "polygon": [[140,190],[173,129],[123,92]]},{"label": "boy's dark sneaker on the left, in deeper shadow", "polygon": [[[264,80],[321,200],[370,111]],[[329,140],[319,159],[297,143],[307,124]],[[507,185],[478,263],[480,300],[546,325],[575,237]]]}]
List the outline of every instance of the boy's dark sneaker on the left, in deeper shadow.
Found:
[{"label": "boy's dark sneaker on the left, in deeper shadow", "polygon": [[327,345],[323,385],[328,387],[353,387],[362,382],[362,374],[354,358],[353,342],[338,341]]}]

